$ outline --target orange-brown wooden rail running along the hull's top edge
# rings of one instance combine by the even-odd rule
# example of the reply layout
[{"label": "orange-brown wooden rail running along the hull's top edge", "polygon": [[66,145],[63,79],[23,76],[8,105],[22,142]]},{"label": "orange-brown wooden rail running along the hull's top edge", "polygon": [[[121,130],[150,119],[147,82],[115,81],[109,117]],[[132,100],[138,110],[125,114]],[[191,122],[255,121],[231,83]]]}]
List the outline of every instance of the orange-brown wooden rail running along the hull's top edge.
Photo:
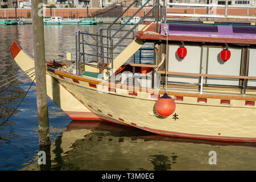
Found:
[{"label": "orange-brown wooden rail running along the hull's top edge", "polygon": [[[104,86],[111,86],[113,88],[120,88],[120,89],[127,89],[130,91],[138,91],[138,92],[146,92],[146,93],[155,93],[155,94],[164,94],[164,90],[156,90],[156,89],[147,89],[147,88],[138,88],[135,86],[129,86],[125,85],[122,86],[120,84],[112,84],[110,82],[101,82],[101,81],[96,81],[96,80],[91,80],[89,78],[84,78],[76,75],[72,75],[71,73],[65,73],[58,71],[55,68],[51,67],[46,67],[47,71],[53,72],[57,75],[69,77],[69,78],[75,78],[76,80],[81,80],[93,84],[102,84]],[[229,100],[247,100],[247,101],[256,101],[256,97],[251,97],[251,96],[224,96],[221,94],[200,94],[200,93],[184,93],[184,92],[168,92],[168,95],[170,96],[184,96],[184,97],[200,97],[200,98],[218,98],[218,99],[229,99]]]}]

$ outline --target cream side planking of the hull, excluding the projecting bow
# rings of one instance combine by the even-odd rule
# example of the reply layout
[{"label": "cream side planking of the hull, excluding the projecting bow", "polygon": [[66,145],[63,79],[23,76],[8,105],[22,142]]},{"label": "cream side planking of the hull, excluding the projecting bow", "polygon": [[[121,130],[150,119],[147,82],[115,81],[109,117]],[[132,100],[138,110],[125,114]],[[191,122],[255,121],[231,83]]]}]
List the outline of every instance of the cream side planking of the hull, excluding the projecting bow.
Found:
[{"label": "cream side planking of the hull, excluding the projecting bow", "polygon": [[[86,81],[76,83],[72,78],[60,79],[55,73],[48,72],[65,85],[69,92],[84,102],[93,113],[162,135],[213,140],[256,142],[255,106],[244,106],[242,100],[232,100],[229,106],[219,104],[220,99],[208,99],[207,104],[197,102],[196,97],[185,97],[176,101],[176,117],[159,118],[155,114],[155,98],[150,93],[138,92],[129,95],[124,89],[113,92],[98,92],[100,85],[89,85]],[[107,92],[108,87],[105,89]],[[115,90],[115,91],[114,91]],[[243,105],[243,106],[242,106]],[[174,113],[174,114],[175,114]]]}]

